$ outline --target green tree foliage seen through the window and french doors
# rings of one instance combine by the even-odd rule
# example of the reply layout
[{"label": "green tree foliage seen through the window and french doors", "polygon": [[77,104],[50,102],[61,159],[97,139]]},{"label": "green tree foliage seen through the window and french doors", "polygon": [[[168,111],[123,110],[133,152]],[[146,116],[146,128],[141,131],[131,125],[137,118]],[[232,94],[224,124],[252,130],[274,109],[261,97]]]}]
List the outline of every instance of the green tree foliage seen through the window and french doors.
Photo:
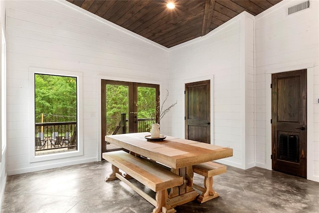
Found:
[{"label": "green tree foliage seen through the window and french doors", "polygon": [[[76,121],[76,77],[35,74],[35,122]],[[121,120],[121,113],[129,114],[129,88],[108,84],[106,88],[107,134],[112,134]],[[138,87],[138,118],[154,119],[156,115],[155,88]],[[148,122],[142,131],[150,131]],[[140,124],[139,124],[140,125]]]}]

